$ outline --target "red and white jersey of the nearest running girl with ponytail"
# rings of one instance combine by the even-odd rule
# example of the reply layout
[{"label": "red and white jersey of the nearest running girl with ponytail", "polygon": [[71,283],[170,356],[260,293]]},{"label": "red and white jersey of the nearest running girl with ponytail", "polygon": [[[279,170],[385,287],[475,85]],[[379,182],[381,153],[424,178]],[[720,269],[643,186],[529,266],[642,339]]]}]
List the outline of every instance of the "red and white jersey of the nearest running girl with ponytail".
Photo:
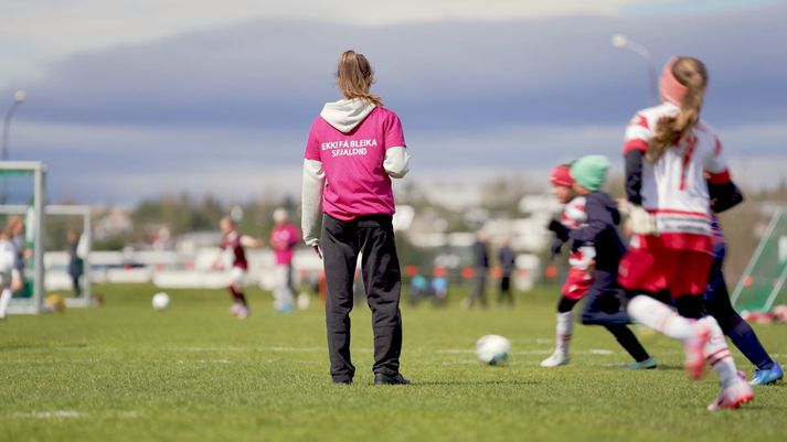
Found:
[{"label": "red and white jersey of the nearest running girl with ponytail", "polygon": [[[640,110],[626,129],[624,154],[647,151],[657,122],[680,111],[663,104]],[[730,172],[713,128],[700,120],[657,163],[642,161],[642,207],[656,215],[658,237],[632,238],[634,247],[710,250],[711,208],[705,173],[726,183]],[[647,245],[645,244],[647,242]]]}]

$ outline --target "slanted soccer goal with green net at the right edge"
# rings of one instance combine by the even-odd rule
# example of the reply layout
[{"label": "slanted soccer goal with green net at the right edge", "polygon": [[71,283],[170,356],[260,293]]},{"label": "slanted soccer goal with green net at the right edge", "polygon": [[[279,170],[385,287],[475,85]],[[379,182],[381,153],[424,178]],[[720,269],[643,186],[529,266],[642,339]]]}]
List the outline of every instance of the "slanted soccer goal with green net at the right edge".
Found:
[{"label": "slanted soccer goal with green net at the right edge", "polygon": [[767,312],[787,302],[787,211],[778,209],[732,294],[738,311]]}]

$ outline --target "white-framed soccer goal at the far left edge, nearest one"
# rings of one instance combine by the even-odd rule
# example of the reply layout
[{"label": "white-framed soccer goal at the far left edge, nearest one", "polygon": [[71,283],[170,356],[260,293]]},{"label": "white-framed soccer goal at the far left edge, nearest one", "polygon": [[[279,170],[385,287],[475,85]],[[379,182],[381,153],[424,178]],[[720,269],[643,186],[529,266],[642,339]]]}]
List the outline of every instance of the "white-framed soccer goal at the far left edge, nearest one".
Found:
[{"label": "white-framed soccer goal at the far left edge, nearest one", "polygon": [[44,303],[44,180],[41,162],[0,162],[0,219],[19,250],[24,288],[13,294],[8,313],[36,314]]}]

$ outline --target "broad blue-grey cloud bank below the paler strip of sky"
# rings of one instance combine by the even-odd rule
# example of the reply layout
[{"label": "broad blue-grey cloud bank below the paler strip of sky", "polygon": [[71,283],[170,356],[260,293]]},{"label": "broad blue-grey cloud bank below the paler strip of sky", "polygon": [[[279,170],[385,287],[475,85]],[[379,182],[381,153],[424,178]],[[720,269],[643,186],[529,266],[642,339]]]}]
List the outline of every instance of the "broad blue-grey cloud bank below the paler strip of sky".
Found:
[{"label": "broad blue-grey cloud bank below the paler strip of sky", "polygon": [[775,43],[787,41],[785,13],[775,6],[385,28],[251,21],[55,63],[40,83],[18,85],[30,98],[11,158],[45,161],[54,200],[297,194],[306,132],[337,98],[332,71],[348,47],[370,56],[374,91],[402,117],[414,180],[468,168],[535,173],[589,152],[615,158],[623,126],[647,103],[644,62],[609,43],[623,32],[657,61],[703,58],[712,76],[705,117],[727,151],[784,164],[787,60]]}]

